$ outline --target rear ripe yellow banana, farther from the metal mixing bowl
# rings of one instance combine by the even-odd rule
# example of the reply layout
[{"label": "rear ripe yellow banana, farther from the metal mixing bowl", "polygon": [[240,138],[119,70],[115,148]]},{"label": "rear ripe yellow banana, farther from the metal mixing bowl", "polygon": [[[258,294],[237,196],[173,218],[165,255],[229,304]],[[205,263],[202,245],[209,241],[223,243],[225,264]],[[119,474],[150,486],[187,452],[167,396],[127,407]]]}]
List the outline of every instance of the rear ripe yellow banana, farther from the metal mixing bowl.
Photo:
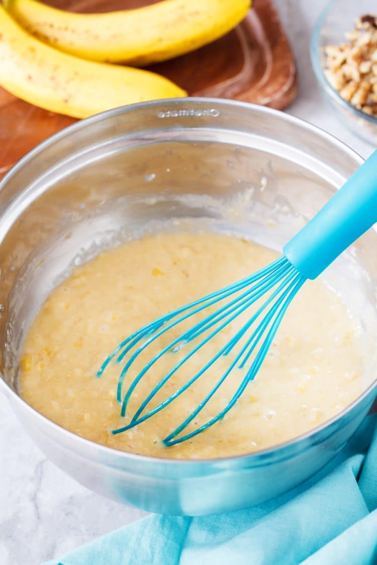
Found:
[{"label": "rear ripe yellow banana, farther from the metal mixing bowl", "polygon": [[3,0],[41,41],[83,59],[145,66],[188,53],[223,36],[251,0],[164,0],[107,14],[73,14],[37,0]]}]

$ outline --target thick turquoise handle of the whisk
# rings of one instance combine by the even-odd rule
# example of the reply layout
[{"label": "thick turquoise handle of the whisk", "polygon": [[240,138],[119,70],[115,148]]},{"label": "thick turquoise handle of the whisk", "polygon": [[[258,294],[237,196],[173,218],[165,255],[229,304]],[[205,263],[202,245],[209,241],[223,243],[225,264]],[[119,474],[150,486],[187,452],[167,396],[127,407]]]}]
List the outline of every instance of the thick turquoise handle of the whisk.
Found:
[{"label": "thick turquoise handle of the whisk", "polygon": [[377,222],[377,151],[294,236],[283,252],[307,279],[315,279]]}]

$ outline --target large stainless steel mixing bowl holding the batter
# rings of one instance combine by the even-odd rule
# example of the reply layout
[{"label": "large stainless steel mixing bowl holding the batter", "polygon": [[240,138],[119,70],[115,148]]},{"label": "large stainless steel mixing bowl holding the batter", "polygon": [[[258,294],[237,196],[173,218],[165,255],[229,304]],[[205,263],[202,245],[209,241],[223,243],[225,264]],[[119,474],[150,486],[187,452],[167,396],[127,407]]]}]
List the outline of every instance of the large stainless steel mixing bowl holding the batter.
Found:
[{"label": "large stainless steel mixing bowl holding the batter", "polygon": [[[365,392],[326,425],[258,453],[189,461],[122,453],[55,425],[19,397],[18,357],[51,288],[99,250],[176,229],[177,219],[187,229],[235,232],[281,249],[361,162],[292,116],[205,98],[105,112],[23,158],[0,191],[1,388],[47,457],[95,492],[183,515],[255,505],[326,465],[374,401],[375,347],[365,355]],[[366,345],[375,339],[376,249],[370,231],[327,273],[362,318]]]}]

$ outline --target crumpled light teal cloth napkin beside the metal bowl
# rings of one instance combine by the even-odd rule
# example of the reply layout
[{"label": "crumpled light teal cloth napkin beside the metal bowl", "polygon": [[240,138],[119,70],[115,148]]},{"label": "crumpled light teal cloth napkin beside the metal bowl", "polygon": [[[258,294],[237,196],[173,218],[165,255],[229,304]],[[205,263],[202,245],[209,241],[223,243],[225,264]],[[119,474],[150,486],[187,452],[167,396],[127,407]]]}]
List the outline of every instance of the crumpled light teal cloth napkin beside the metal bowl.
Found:
[{"label": "crumpled light teal cloth napkin beside the metal bowl", "polygon": [[248,510],[150,515],[45,565],[377,564],[377,416],[326,468]]}]

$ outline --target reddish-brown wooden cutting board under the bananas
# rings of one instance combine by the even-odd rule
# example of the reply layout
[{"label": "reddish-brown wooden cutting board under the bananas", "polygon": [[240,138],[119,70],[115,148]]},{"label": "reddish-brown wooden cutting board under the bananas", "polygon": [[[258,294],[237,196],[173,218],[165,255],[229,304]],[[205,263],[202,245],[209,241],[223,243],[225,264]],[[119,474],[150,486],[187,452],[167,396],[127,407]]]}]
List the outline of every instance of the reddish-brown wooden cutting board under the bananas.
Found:
[{"label": "reddish-brown wooden cutting board under the bananas", "polygon": [[[47,3],[64,10],[105,12],[158,1]],[[282,110],[297,94],[296,66],[272,0],[255,0],[245,20],[212,44],[149,68],[169,77],[192,96],[233,98]],[[75,121],[41,110],[0,88],[0,178],[34,146]]]}]

